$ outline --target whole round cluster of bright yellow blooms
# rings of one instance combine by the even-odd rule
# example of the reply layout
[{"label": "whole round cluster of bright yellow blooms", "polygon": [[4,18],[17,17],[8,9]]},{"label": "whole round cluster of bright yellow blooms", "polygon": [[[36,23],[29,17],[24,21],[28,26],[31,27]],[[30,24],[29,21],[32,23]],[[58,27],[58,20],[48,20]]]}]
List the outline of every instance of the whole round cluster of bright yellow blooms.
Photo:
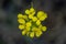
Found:
[{"label": "whole round cluster of bright yellow blooms", "polygon": [[47,18],[47,14],[43,11],[36,11],[34,8],[25,10],[25,14],[18,14],[18,22],[20,23],[19,29],[22,31],[22,35],[30,37],[40,37],[46,31],[46,26],[42,25],[42,21]]}]

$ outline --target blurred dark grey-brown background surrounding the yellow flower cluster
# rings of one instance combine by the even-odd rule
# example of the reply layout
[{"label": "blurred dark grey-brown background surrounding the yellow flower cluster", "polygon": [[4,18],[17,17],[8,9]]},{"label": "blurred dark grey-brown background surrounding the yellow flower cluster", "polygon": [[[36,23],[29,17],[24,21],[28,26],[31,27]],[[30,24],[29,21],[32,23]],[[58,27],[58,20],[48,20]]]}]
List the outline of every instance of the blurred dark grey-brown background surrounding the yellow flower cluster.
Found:
[{"label": "blurred dark grey-brown background surrounding the yellow flower cluster", "polygon": [[[33,7],[48,18],[42,23],[47,31],[38,38],[22,36],[18,13]],[[66,44],[66,0],[0,0],[0,44]]]}]

